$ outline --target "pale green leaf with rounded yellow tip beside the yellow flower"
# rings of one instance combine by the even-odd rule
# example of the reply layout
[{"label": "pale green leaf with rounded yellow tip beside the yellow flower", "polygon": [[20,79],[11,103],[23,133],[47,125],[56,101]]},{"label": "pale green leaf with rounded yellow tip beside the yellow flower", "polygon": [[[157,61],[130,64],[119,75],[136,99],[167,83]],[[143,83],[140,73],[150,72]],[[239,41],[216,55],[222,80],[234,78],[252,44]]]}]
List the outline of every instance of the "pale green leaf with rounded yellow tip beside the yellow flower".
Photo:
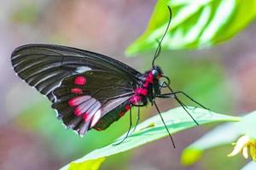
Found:
[{"label": "pale green leaf with rounded yellow tip beside the yellow flower", "polygon": [[201,158],[204,150],[224,144],[236,142],[241,135],[247,134],[250,138],[256,139],[256,111],[241,117],[240,122],[225,123],[214,128],[193,144],[183,150],[181,163],[189,166]]}]

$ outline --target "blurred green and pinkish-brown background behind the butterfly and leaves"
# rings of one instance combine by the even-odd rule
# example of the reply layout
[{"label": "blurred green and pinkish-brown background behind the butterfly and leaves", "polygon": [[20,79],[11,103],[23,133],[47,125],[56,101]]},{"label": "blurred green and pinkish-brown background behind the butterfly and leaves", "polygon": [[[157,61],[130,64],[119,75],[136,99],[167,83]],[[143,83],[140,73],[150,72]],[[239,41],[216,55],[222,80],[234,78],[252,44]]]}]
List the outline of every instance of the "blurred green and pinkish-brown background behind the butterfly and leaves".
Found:
[{"label": "blurred green and pinkish-brown background behind the butterfly and leaves", "polygon": [[[129,126],[128,115],[108,130],[92,130],[83,139],[66,130],[55,118],[48,99],[15,76],[10,54],[25,43],[58,43],[106,54],[146,71],[154,51],[136,58],[125,58],[124,51],[146,29],[155,1],[0,0],[0,3],[0,169],[57,169],[124,133]],[[172,88],[183,90],[212,111],[229,115],[253,111],[255,30],[253,22],[236,37],[214,48],[163,51],[156,63],[171,78]],[[193,105],[187,99],[183,101]],[[169,99],[157,102],[161,111],[177,105]],[[143,119],[153,113],[154,108],[148,106],[143,110]],[[111,156],[102,169],[240,169],[244,160],[239,156],[226,157],[226,148],[208,150],[193,167],[180,165],[183,148],[210,127],[175,134],[175,150],[166,138]]]}]

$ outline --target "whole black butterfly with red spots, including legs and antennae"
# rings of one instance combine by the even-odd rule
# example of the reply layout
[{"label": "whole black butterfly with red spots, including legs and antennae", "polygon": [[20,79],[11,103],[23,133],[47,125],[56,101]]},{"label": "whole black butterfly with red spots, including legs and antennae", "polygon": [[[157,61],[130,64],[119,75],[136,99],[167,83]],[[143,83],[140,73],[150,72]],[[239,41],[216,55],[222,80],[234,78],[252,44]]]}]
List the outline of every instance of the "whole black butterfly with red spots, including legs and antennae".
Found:
[{"label": "whole black butterfly with red spots, including legs and antennae", "polygon": [[[160,43],[154,59],[159,54]],[[24,45],[11,55],[18,76],[46,95],[57,111],[57,117],[79,135],[84,135],[91,128],[108,128],[126,111],[130,111],[131,116],[132,106],[139,108],[147,105],[148,101],[155,105],[155,98],[177,99],[176,94],[184,94],[170,88],[169,78],[164,76],[159,66],[154,65],[154,59],[152,69],[141,73],[108,56],[60,45]],[[167,82],[160,82],[162,77]],[[161,88],[169,88],[171,93],[161,94]],[[179,99],[177,102],[187,111]]]}]

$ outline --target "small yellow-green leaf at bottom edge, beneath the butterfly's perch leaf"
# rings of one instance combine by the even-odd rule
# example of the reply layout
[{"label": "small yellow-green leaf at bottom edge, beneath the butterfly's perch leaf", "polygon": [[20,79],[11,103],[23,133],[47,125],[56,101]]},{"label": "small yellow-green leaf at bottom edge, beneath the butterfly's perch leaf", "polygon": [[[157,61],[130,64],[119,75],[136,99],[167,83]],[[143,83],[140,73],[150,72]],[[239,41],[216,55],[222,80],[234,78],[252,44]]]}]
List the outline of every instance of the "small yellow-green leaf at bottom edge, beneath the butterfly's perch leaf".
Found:
[{"label": "small yellow-green leaf at bottom edge, beneath the butterfly's perch leaf", "polygon": [[104,157],[92,161],[84,161],[83,163],[72,162],[68,170],[97,170],[103,161],[105,161]]}]

